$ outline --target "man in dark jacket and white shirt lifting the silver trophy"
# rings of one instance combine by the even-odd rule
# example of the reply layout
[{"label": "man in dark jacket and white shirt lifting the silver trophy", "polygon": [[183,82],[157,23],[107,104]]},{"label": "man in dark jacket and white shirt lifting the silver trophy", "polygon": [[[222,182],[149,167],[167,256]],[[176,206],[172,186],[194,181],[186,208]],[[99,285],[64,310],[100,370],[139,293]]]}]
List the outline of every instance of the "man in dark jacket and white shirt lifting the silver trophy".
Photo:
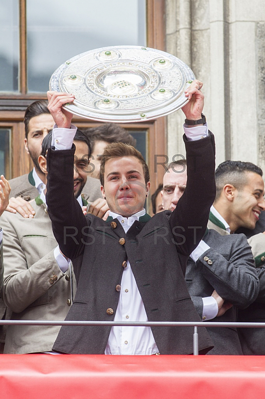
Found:
[{"label": "man in dark jacket and white shirt lifting the silver trophy", "polygon": [[[132,146],[110,144],[103,154],[101,175],[101,190],[111,210],[105,223],[94,215],[84,216],[70,194],[75,130],[72,115],[61,104],[72,102],[74,95],[47,93],[58,126],[47,153],[48,212],[60,250],[72,260],[77,279],[68,320],[200,320],[184,274],[188,256],[205,232],[215,197],[214,140],[201,114],[201,87],[195,80],[185,92],[190,100],[182,108],[187,118],[184,142],[190,183],[178,209],[147,215],[143,206],[150,182],[142,155]],[[64,135],[63,143],[57,143],[58,133]],[[60,193],[63,202],[58,201]],[[67,215],[62,212],[66,204]],[[194,225],[200,226],[195,234]],[[83,354],[189,354],[192,335],[190,327],[67,326],[61,328],[53,349]],[[200,353],[211,345],[201,328]]]}]

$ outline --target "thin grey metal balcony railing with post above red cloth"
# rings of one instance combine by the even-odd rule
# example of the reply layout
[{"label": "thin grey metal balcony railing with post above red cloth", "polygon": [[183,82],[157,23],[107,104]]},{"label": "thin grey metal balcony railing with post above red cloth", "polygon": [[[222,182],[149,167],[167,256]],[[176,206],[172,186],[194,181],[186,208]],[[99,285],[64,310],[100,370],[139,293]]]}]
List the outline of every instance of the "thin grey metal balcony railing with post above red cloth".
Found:
[{"label": "thin grey metal balcony railing with post above red cloth", "polygon": [[120,326],[120,327],[194,327],[193,355],[198,355],[198,327],[236,327],[265,328],[265,323],[224,323],[224,322],[193,322],[193,321],[147,321],[147,322],[115,322],[115,321],[57,321],[57,320],[0,320],[0,325],[22,326]]}]

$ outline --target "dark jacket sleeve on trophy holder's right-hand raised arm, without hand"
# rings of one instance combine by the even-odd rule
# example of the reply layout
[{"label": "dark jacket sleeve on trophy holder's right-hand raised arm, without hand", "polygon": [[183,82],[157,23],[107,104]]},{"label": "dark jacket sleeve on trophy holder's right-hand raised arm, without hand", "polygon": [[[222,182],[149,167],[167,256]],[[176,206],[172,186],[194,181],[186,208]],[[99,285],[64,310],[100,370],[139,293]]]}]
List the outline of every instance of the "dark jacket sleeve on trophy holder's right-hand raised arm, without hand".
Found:
[{"label": "dark jacket sleeve on trophy holder's right-hand raised arm, without hand", "polygon": [[187,186],[176,208],[170,215],[177,251],[185,256],[196,248],[202,239],[215,199],[215,142],[214,136],[187,141],[184,135],[187,158]]}]

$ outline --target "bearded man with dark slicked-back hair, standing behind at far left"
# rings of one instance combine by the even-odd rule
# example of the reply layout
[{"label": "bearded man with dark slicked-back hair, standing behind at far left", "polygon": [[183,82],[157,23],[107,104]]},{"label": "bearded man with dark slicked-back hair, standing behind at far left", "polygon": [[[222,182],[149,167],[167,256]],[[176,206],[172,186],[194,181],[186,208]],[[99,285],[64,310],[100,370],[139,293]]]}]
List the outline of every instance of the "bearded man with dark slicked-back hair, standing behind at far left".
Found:
[{"label": "bearded man with dark slicked-back hair, standing behind at far left", "polygon": [[[18,197],[18,199],[16,201],[10,200],[7,209],[9,211],[15,209],[23,214],[24,217],[33,217],[34,210],[23,200],[32,200],[45,190],[45,176],[38,165],[38,157],[41,152],[43,138],[54,126],[54,120],[47,108],[47,101],[34,101],[27,107],[24,116],[24,125],[24,146],[33,161],[34,168],[29,174],[10,180],[10,197]],[[90,176],[88,171],[87,176]],[[90,202],[101,198],[99,182],[96,179],[87,180],[83,189],[83,195],[85,200],[89,200]]]}]

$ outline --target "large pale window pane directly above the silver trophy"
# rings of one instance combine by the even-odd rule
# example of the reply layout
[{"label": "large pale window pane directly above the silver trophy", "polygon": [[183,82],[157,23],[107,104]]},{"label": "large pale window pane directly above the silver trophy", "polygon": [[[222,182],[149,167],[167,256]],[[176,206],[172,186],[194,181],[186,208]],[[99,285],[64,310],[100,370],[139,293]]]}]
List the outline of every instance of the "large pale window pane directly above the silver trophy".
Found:
[{"label": "large pale window pane directly above the silver trophy", "polygon": [[145,0],[27,0],[28,91],[47,91],[52,73],[74,55],[146,45],[145,32]]}]

